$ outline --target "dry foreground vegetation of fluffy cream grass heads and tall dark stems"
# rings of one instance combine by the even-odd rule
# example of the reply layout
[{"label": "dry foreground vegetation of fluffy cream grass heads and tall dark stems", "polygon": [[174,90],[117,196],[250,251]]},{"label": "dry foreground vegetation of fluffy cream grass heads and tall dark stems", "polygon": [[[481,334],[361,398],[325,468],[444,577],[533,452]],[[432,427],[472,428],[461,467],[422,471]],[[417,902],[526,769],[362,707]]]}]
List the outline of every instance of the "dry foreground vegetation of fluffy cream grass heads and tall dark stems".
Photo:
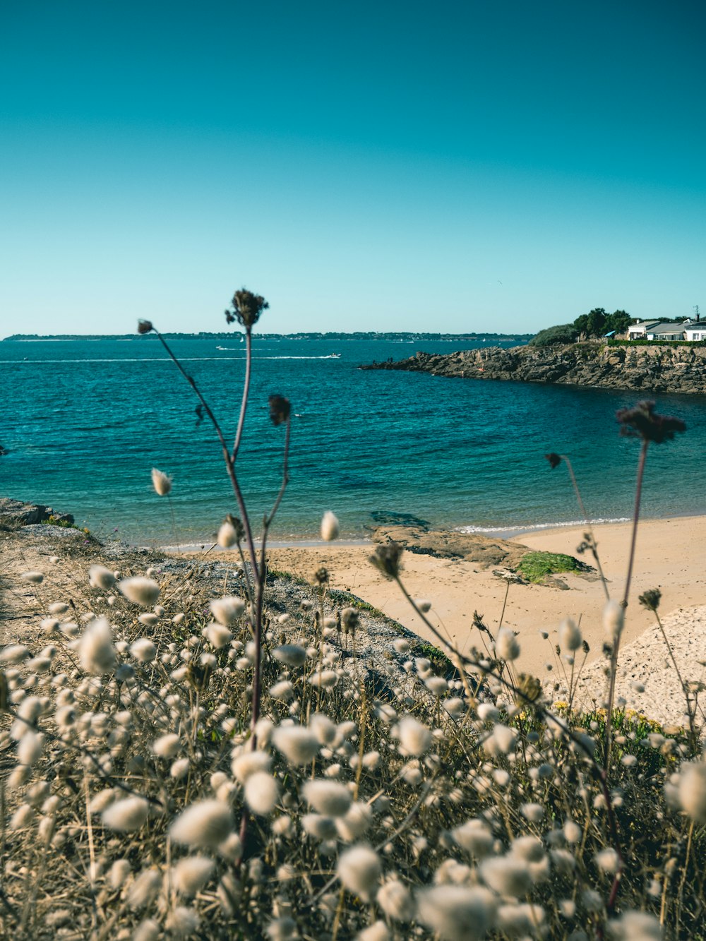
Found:
[{"label": "dry foreground vegetation of fluffy cream grass heads and tall dark stems", "polygon": [[[98,544],[64,550],[68,582],[50,557],[24,571],[31,627],[0,647],[5,934],[706,937],[701,691],[683,678],[690,725],[672,732],[628,712],[615,687],[647,456],[683,424],[651,403],[618,416],[640,448],[632,542],[619,600],[602,577],[606,683],[582,711],[580,622],[560,625],[555,646],[545,633],[550,693],[518,672],[521,639],[502,623],[473,614],[466,643],[450,643],[430,602],[409,595],[394,543],[371,563],[437,646],[385,633],[375,609],[331,592],[324,566],[297,591],[286,580],[285,611],[274,602],[266,544],[290,445],[280,393],[267,434],[283,436],[281,487],[258,548],[237,470],[251,331],[265,309],[243,289],[227,314],[247,343],[233,439],[164,336],[140,326],[217,434],[239,513],[220,524],[231,551],[222,581],[149,553],[111,566]],[[549,459],[575,484],[566,455]],[[587,521],[585,543],[599,561]],[[529,573],[579,566],[533,554]],[[659,598],[644,598],[656,614]]]}]

